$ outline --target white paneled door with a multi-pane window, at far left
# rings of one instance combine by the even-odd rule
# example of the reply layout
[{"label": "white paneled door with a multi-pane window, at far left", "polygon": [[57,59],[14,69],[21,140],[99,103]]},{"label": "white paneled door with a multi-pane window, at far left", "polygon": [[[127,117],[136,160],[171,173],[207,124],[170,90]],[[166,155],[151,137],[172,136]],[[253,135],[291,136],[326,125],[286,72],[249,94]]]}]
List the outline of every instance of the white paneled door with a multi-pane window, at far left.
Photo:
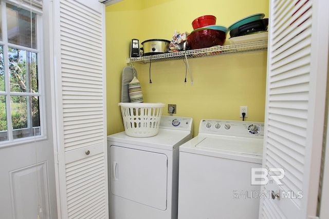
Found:
[{"label": "white paneled door with a multi-pane window, at far left", "polygon": [[[6,2],[9,5],[6,5]],[[42,5],[33,4],[31,8],[30,1],[20,3],[15,1],[12,4],[11,1],[6,2],[1,1],[0,4],[3,21],[0,59],[2,59],[1,63],[5,63],[3,66],[5,80],[0,73],[0,99],[3,106],[3,100],[6,98],[7,106],[7,110],[1,107],[0,113],[3,115],[5,111],[7,112],[8,122],[7,130],[0,131],[0,218],[56,219],[50,59],[48,54],[43,53],[51,48],[48,41],[49,19],[45,16],[49,13],[49,5],[44,1]],[[31,17],[36,18],[36,23],[30,22]],[[34,35],[35,29],[36,38],[29,39],[29,34],[32,32]],[[33,42],[32,45],[29,42]],[[14,60],[15,51],[20,61]],[[29,59],[31,55],[38,58]],[[33,69],[34,64],[38,65],[38,74],[25,74],[25,70],[31,72],[29,70]],[[9,78],[10,83],[6,81]],[[33,84],[34,79],[39,81],[38,86]],[[2,87],[4,82],[5,89]],[[20,84],[17,86],[15,82]],[[26,102],[23,103],[22,98],[20,103],[16,102],[16,96],[24,97]],[[36,99],[39,100],[37,107],[39,110],[31,106]],[[20,114],[22,112],[25,113]],[[35,117],[40,118],[39,125],[32,122],[34,121],[32,114],[35,112],[40,113],[40,117]],[[17,114],[20,114],[18,118],[26,121],[22,128],[16,127],[19,122],[15,120]],[[0,120],[4,122],[6,117],[0,116]]]}]

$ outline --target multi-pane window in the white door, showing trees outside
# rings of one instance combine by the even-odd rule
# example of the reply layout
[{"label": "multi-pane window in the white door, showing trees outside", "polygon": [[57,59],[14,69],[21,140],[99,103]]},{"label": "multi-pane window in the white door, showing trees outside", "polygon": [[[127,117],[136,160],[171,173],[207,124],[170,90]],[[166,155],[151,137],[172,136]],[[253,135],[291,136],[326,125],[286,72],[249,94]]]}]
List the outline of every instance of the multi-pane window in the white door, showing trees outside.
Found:
[{"label": "multi-pane window in the white door, showing trees outside", "polygon": [[[35,0],[34,0],[35,1]],[[24,4],[24,2],[29,4]],[[30,1],[0,1],[0,145],[42,136],[37,23]]]}]

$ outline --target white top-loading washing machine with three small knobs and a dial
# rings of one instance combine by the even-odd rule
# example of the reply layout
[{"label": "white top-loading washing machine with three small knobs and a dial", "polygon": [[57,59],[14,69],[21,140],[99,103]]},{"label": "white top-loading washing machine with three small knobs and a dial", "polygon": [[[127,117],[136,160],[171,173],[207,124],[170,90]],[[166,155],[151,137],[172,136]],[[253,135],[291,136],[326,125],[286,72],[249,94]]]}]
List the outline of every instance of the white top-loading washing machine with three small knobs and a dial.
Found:
[{"label": "white top-loading washing machine with three small knobs and a dial", "polygon": [[264,123],[202,120],[179,147],[178,218],[258,218],[263,137]]}]

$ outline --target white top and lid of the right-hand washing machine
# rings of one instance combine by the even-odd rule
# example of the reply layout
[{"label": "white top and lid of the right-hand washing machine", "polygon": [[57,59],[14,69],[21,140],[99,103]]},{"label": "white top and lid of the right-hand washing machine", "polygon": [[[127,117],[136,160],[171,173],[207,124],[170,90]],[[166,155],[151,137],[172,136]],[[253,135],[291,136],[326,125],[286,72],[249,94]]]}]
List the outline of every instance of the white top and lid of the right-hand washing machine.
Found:
[{"label": "white top and lid of the right-hand washing machine", "polygon": [[236,136],[196,136],[181,145],[179,151],[261,164],[263,139]]}]

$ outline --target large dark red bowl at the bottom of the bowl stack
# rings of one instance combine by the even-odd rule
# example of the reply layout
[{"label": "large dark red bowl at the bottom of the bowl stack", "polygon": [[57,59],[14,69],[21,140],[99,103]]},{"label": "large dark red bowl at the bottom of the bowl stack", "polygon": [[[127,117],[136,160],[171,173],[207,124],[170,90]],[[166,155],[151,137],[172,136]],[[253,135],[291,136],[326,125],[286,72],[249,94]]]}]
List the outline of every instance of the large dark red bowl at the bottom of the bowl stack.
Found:
[{"label": "large dark red bowl at the bottom of the bowl stack", "polygon": [[226,32],[221,30],[198,30],[187,36],[187,45],[190,49],[202,49],[224,45]]}]

